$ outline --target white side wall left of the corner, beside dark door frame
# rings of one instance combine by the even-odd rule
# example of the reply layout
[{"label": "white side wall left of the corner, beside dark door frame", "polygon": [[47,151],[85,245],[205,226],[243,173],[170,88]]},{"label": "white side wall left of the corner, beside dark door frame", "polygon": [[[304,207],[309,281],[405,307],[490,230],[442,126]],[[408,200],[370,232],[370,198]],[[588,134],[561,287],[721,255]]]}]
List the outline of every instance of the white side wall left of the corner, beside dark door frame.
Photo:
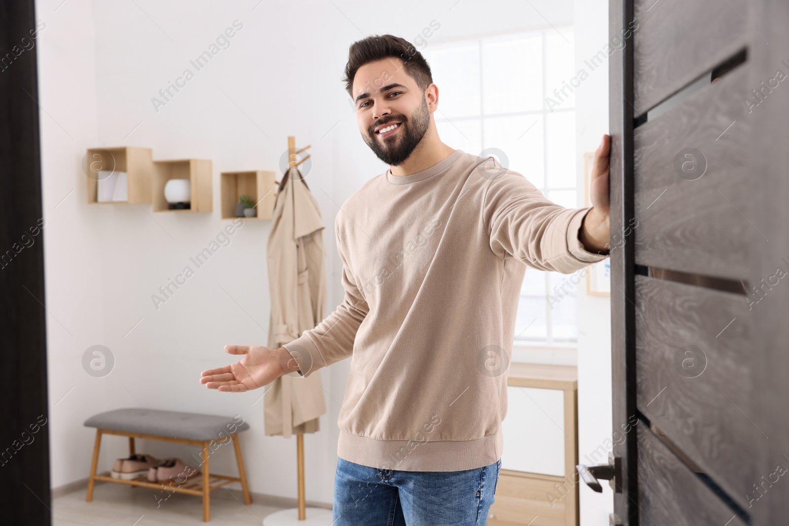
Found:
[{"label": "white side wall left of the corner, beside dark door frame", "polygon": [[36,5],[36,19],[45,25],[35,41],[54,487],[87,475],[92,446],[81,424],[114,393],[107,379],[92,379],[81,365],[85,349],[104,343],[107,323],[113,323],[103,292],[112,271],[104,264],[108,211],[85,204],[80,168],[86,145],[99,140],[93,10],[89,2],[66,5]]}]

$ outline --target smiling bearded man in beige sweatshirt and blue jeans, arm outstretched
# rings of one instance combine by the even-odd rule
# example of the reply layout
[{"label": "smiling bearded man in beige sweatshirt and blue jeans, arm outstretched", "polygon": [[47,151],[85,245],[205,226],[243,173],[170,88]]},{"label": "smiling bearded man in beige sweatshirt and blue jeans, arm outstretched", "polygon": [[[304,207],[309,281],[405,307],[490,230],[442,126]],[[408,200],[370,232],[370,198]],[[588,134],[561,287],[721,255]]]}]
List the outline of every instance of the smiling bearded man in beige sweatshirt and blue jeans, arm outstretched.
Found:
[{"label": "smiling bearded man in beige sweatshirt and blue jeans, arm outstretched", "polygon": [[238,392],[348,356],[334,524],[486,524],[501,468],[507,366],[526,265],[570,274],[608,255],[608,135],[593,207],[547,200],[520,173],[443,144],[428,63],[393,35],[353,43],[346,90],[390,165],[335,220],[345,300],[280,349],[204,371]]}]

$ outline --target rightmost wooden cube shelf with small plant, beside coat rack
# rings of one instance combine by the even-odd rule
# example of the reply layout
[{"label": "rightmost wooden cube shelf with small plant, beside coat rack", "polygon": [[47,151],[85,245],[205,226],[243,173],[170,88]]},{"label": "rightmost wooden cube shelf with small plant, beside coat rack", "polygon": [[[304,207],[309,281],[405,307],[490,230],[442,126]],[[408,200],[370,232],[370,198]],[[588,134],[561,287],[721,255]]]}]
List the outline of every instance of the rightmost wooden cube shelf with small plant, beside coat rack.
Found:
[{"label": "rightmost wooden cube shelf with small plant, beside coat rack", "polygon": [[236,218],[236,203],[240,196],[249,196],[257,203],[257,215],[244,219],[271,219],[276,200],[275,173],[267,170],[222,172],[222,219]]}]

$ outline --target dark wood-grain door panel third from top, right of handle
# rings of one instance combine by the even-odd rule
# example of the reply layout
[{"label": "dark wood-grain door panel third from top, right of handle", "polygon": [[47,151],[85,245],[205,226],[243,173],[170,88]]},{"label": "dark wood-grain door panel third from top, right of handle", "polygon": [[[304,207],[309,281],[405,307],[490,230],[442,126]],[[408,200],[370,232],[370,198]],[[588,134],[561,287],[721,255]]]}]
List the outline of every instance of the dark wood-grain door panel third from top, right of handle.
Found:
[{"label": "dark wood-grain door panel third from top, right of handle", "polygon": [[742,507],[766,438],[749,420],[755,315],[742,296],[636,276],[639,410]]}]

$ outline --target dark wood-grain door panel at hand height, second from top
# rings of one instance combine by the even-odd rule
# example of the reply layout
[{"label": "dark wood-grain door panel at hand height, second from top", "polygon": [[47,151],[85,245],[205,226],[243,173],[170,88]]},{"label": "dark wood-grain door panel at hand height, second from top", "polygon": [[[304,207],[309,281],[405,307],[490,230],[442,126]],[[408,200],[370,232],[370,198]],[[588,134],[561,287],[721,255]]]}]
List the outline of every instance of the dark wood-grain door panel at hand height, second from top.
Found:
[{"label": "dark wood-grain door panel at hand height, second from top", "polygon": [[768,244],[750,199],[761,177],[747,169],[751,69],[634,130],[636,263],[738,280],[748,254]]}]

